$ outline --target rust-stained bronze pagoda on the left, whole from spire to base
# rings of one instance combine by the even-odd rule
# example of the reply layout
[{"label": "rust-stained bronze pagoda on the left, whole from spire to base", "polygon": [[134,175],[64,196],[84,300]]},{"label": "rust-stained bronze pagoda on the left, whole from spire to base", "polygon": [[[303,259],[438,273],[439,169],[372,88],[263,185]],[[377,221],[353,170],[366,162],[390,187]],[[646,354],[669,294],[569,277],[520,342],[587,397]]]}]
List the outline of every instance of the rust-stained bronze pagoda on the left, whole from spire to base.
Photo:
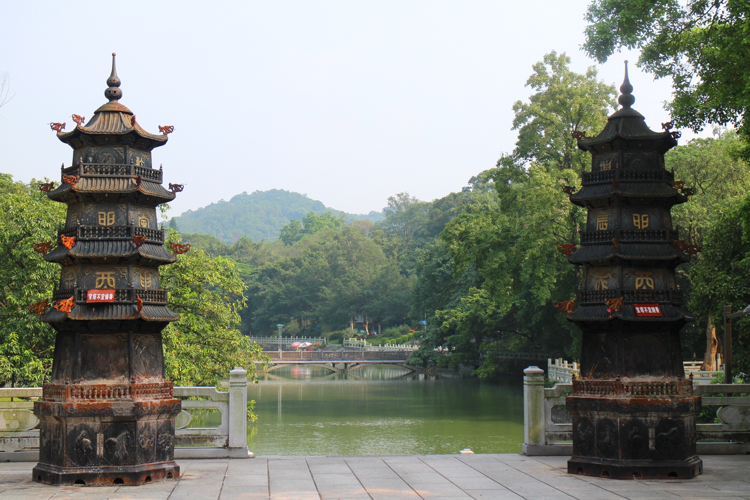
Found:
[{"label": "rust-stained bronze pagoda on the left, whole from spire to base", "polygon": [[[159,266],[175,261],[156,207],[174,199],[162,187],[152,151],[166,133],[143,130],[122,97],[115,71],[105,103],[83,124],[58,130],[73,148],[49,199],[68,205],[57,247],[62,266],[41,316],[57,332],[52,376],[34,403],[40,420],[34,481],[144,484],[177,478],[174,422],[180,400],[164,376],[161,331],[179,315],[166,307]],[[59,129],[60,127],[58,127]]]}]

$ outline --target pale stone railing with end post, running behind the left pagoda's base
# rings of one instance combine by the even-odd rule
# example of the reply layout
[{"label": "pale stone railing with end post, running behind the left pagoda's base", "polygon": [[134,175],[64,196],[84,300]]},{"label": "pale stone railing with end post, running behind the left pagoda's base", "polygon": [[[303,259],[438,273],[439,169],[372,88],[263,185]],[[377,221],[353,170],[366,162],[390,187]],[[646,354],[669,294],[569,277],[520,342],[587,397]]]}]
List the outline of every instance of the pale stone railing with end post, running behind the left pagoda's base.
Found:
[{"label": "pale stone railing with end post, running behind the left pagoda's base", "polygon": [[[203,398],[182,400],[175,418],[175,459],[248,458],[248,372],[235,368],[229,372],[227,385],[229,391],[174,388],[177,398]],[[33,399],[40,397],[42,388],[0,388],[0,461],[39,460],[39,419],[33,412]],[[5,401],[7,398],[31,400]],[[208,412],[220,414],[217,427],[205,422]]]}]

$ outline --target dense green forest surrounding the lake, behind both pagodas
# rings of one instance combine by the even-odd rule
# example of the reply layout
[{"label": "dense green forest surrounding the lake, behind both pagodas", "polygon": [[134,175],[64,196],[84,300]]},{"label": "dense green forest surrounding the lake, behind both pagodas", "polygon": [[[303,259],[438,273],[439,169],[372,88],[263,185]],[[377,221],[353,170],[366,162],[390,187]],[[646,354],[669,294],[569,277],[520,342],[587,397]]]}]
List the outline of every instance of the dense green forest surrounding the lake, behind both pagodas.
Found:
[{"label": "dense green forest surrounding the lake, behind both pagodas", "polygon": [[[190,230],[196,226],[185,216],[173,219],[167,240],[189,242],[191,250],[162,270],[169,307],[181,314],[164,332],[169,376],[179,384],[213,384],[230,367],[251,366],[260,356],[251,335],[274,334],[277,324],[286,334],[340,339],[364,332],[377,343],[419,342],[411,363],[465,364],[481,377],[505,370],[497,356],[504,351],[577,358],[580,334],[553,304],[575,296],[581,270],[557,247],[579,243],[586,214],[564,188],[580,187],[590,163],[574,134],[604,127],[616,88],[599,79],[595,67],[575,73],[569,64],[564,53],[550,52],[532,67],[529,99],[514,103],[508,124],[518,131],[514,150],[480,166],[466,186],[443,198],[426,202],[398,193],[383,214],[369,218],[323,204],[294,205],[267,219],[255,211],[251,222],[266,229],[254,234],[233,229],[233,217],[242,212],[229,211],[239,206],[234,199],[217,205],[223,212],[193,212],[210,212],[214,218],[198,217],[208,224],[223,217],[214,234]],[[695,192],[673,208],[679,238],[701,249],[678,268],[686,305],[697,316],[683,330],[686,359],[717,349],[721,307],[738,310],[750,301],[744,148],[741,133],[715,127],[712,136],[665,157],[667,169]],[[0,175],[5,385],[38,385],[51,365],[54,334],[33,304],[50,298],[59,269],[34,252],[34,244],[56,240],[65,207],[49,202],[37,182]],[[294,194],[260,195],[269,193]],[[240,196],[255,203],[260,195]],[[277,233],[257,237],[274,227]],[[750,320],[736,321],[735,364],[745,373],[748,327]],[[437,355],[437,346],[449,354]]]}]

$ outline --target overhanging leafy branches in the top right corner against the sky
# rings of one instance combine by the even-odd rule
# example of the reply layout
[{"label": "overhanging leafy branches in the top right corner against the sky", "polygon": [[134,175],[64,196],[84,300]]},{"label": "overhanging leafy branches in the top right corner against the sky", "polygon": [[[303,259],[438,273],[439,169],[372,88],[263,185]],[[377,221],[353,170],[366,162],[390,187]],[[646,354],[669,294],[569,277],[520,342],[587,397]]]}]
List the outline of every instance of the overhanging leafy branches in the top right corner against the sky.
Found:
[{"label": "overhanging leafy branches in the top right corner against the sky", "polygon": [[676,125],[735,124],[748,158],[748,13],[736,0],[594,0],[583,49],[599,62],[621,47],[640,49],[640,67],[673,80],[667,109]]}]

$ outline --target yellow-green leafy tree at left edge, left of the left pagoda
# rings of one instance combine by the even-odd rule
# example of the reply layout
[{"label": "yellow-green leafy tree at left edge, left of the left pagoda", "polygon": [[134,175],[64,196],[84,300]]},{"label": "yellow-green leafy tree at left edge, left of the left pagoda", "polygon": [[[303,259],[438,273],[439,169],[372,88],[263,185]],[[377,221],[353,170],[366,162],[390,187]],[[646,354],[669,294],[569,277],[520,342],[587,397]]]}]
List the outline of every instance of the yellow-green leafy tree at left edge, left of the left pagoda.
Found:
[{"label": "yellow-green leafy tree at left edge, left of the left pagoda", "polygon": [[52,368],[55,332],[29,307],[51,301],[60,268],[34,251],[34,244],[53,244],[65,209],[49,201],[38,181],[25,184],[0,174],[0,383],[5,385],[38,386]]}]

